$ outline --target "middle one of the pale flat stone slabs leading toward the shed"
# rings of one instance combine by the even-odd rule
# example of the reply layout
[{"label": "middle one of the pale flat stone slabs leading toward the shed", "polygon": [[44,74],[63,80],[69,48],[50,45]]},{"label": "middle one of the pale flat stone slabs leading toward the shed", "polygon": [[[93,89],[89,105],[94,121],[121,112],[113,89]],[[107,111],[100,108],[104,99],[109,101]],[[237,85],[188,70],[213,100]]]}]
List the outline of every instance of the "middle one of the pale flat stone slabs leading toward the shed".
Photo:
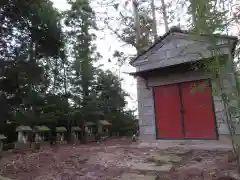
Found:
[{"label": "middle one of the pale flat stone slabs leading toward the shed", "polygon": [[145,171],[161,171],[169,172],[172,169],[172,164],[163,164],[157,166],[156,163],[129,163],[130,168]]}]

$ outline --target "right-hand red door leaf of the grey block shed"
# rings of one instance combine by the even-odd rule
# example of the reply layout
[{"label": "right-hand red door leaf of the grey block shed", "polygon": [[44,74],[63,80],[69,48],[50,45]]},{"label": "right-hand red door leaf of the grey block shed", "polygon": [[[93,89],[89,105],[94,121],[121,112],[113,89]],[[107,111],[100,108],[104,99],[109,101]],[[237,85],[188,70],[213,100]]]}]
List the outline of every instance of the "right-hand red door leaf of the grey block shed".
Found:
[{"label": "right-hand red door leaf of the grey block shed", "polygon": [[185,138],[216,139],[211,89],[208,82],[180,84],[184,108]]}]

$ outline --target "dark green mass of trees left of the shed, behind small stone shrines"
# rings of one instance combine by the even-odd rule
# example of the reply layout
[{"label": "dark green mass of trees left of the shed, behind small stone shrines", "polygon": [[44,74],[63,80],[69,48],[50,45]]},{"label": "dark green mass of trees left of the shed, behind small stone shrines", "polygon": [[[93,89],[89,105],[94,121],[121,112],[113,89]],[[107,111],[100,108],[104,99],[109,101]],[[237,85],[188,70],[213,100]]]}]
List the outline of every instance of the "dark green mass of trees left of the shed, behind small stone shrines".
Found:
[{"label": "dark green mass of trees left of the shed, behind small stone shrines", "polygon": [[119,132],[117,123],[134,119],[126,118],[120,80],[94,67],[101,56],[88,0],[68,3],[60,14],[49,0],[0,2],[0,131],[10,141],[18,125],[45,125],[55,136],[58,126],[105,118]]}]

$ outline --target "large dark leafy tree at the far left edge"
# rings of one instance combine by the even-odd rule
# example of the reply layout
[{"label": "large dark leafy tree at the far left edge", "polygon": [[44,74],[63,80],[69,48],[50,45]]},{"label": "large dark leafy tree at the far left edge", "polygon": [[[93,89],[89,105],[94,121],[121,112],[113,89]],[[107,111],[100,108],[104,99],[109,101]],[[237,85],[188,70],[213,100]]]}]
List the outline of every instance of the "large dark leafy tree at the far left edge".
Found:
[{"label": "large dark leafy tree at the far left edge", "polygon": [[1,109],[7,121],[40,123],[38,105],[49,87],[46,63],[63,55],[59,13],[48,0],[1,1]]}]

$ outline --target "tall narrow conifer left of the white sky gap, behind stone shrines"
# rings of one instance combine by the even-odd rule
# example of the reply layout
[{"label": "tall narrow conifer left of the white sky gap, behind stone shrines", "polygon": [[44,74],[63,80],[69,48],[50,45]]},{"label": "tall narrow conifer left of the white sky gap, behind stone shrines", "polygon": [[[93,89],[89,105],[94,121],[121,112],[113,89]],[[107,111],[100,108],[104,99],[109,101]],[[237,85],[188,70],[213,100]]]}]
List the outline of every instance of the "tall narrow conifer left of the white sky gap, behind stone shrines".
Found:
[{"label": "tall narrow conifer left of the white sky gap, behind stone shrines", "polygon": [[[94,83],[95,68],[93,62],[99,57],[93,45],[95,35],[90,31],[96,29],[95,13],[88,0],[69,1],[71,9],[65,12],[65,25],[69,27],[67,37],[71,46],[73,100],[75,108],[81,111],[82,126],[90,120],[91,89]],[[79,113],[78,113],[79,114]]]}]

